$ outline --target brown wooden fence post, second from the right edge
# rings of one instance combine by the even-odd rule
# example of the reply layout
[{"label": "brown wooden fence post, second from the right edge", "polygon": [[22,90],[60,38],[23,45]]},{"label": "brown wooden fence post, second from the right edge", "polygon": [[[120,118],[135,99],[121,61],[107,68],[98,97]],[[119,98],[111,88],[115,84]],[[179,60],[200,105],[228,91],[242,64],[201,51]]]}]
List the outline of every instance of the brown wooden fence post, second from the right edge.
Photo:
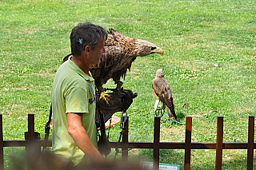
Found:
[{"label": "brown wooden fence post, second from the right edge", "polygon": [[222,146],[223,144],[223,117],[217,120],[217,142],[216,142],[216,163],[215,169],[222,170]]}]

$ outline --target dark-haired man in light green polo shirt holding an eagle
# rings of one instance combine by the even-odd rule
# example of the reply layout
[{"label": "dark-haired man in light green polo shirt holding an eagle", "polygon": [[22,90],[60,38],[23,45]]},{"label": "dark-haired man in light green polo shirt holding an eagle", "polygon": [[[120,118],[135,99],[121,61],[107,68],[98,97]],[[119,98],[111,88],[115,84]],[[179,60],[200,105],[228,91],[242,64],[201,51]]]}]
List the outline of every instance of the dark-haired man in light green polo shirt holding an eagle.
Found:
[{"label": "dark-haired man in light green polo shirt holding an eagle", "polygon": [[72,55],[54,77],[52,150],[74,166],[106,161],[97,149],[95,86],[89,71],[105,52],[106,38],[101,26],[90,22],[75,26],[70,34]]}]

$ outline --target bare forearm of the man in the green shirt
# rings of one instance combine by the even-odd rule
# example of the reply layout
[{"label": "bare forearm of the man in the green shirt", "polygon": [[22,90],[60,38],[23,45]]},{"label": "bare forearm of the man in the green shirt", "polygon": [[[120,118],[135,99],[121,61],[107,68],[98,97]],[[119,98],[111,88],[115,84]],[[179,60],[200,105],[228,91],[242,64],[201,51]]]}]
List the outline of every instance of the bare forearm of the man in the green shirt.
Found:
[{"label": "bare forearm of the man in the green shirt", "polygon": [[68,132],[70,136],[90,160],[93,162],[106,161],[100,152],[98,152],[98,149],[94,147],[86,129],[83,128],[82,117],[83,113],[67,113]]}]

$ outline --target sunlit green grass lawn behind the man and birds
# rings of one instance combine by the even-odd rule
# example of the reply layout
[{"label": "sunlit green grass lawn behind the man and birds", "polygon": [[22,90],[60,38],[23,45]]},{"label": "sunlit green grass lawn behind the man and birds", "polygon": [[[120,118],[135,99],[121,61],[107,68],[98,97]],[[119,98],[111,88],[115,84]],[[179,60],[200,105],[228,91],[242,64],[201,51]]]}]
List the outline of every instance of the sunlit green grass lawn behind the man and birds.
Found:
[{"label": "sunlit green grass lawn behind the man and birds", "polygon": [[[79,22],[93,22],[153,42],[165,52],[138,57],[124,81],[125,89],[138,93],[128,110],[130,141],[153,141],[151,84],[162,68],[178,121],[193,117],[193,142],[216,141],[218,116],[224,117],[223,142],[246,142],[248,116],[255,116],[256,107],[255,6],[254,0],[0,1],[4,140],[24,139],[27,113],[35,113],[35,130],[43,137],[54,73],[70,53],[70,31]],[[119,131],[112,128],[110,140],[118,140]],[[162,121],[161,141],[184,139],[185,125]],[[11,167],[15,150],[5,148],[5,168]],[[131,150],[130,157],[136,156],[152,161],[153,150]],[[184,166],[184,150],[161,150],[160,157],[161,163]],[[214,150],[192,151],[191,169],[214,169],[214,162]],[[223,150],[222,168],[246,169],[246,151]]]}]

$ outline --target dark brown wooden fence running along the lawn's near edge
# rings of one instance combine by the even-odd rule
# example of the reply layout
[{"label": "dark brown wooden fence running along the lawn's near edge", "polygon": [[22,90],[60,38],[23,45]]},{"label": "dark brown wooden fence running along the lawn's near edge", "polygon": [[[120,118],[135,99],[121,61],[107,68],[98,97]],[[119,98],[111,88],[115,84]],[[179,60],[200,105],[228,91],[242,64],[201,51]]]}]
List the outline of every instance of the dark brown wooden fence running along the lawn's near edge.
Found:
[{"label": "dark brown wooden fence running along the lawn's near edge", "polygon": [[[124,118],[124,117],[123,117]],[[124,125],[122,143],[120,148],[126,151],[128,148],[150,148],[154,149],[154,170],[159,167],[159,149],[185,149],[184,169],[190,169],[191,149],[216,149],[215,169],[222,169],[222,149],[246,149],[247,150],[247,169],[253,169],[254,163],[254,116],[249,117],[248,125],[248,142],[247,143],[223,143],[223,117],[218,117],[217,121],[217,141],[216,143],[192,143],[192,117],[186,117],[186,134],[185,142],[160,142],[160,119],[154,117],[154,142],[131,142],[128,140],[129,117]],[[3,140],[2,134],[2,114],[0,114],[0,170],[4,169],[3,147],[30,147],[37,144],[42,146],[43,140],[34,140],[34,114],[28,114],[28,139],[27,140]],[[118,142],[112,141],[110,145],[116,148]],[[51,141],[48,142],[51,146]],[[39,150],[40,151],[40,150]],[[128,160],[128,152],[122,152],[122,160]],[[29,166],[28,169],[33,169]]]}]

